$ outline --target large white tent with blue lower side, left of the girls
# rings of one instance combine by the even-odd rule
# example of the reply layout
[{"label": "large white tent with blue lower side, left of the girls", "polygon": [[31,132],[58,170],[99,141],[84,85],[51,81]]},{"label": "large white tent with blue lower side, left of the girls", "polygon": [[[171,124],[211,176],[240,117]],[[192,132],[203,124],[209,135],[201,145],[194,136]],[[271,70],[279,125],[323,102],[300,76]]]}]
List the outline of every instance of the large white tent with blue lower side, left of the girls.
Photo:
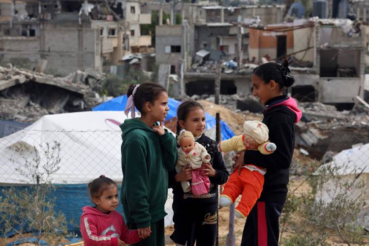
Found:
[{"label": "large white tent with blue lower side, left of the girls", "polygon": [[[62,211],[67,220],[79,224],[82,207],[91,205],[87,183],[105,175],[121,183],[121,129],[119,124],[127,117],[118,111],[78,112],[47,115],[30,126],[9,136],[0,138],[0,195],[9,186],[24,188],[34,183],[22,176],[15,162],[24,163],[25,158],[34,157],[35,147],[42,166],[46,157],[43,153],[46,143],[60,143],[60,169],[53,175],[58,188],[56,211]],[[172,133],[174,134],[174,133]],[[40,146],[41,145],[41,146]],[[13,161],[11,161],[11,159]],[[168,216],[165,225],[172,224],[172,196],[165,205]],[[122,212],[122,207],[118,208]],[[79,232],[70,225],[70,230]]]}]

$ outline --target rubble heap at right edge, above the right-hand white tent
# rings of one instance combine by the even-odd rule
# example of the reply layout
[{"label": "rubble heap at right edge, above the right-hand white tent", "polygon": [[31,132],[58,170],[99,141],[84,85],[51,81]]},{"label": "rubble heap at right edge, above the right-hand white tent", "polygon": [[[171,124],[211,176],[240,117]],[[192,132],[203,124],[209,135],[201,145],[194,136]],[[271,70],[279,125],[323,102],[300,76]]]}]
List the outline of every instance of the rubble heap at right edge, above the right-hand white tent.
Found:
[{"label": "rubble heap at right edge, above the right-hand white tent", "polygon": [[369,107],[358,100],[350,111],[337,111],[319,102],[299,103],[302,121],[296,124],[296,145],[318,160],[355,145],[369,143]]}]

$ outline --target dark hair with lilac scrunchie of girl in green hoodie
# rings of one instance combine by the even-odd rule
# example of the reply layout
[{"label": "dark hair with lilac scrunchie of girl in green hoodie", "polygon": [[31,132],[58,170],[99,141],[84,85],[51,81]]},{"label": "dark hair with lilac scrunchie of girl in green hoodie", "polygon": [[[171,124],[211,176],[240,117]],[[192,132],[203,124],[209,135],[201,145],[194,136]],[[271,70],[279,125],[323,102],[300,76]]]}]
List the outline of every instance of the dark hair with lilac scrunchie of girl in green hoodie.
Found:
[{"label": "dark hair with lilac scrunchie of girl in green hoodie", "polygon": [[[133,89],[135,87],[136,85],[134,84],[129,85],[127,97],[129,97],[132,94]],[[154,104],[154,101],[161,92],[167,92],[167,90],[165,90],[165,88],[160,84],[151,82],[145,82],[141,84],[137,88],[136,93],[133,96],[133,102],[135,107],[138,109],[138,111],[141,112],[142,115],[145,114],[145,112],[143,112],[145,103],[150,102]]]}]

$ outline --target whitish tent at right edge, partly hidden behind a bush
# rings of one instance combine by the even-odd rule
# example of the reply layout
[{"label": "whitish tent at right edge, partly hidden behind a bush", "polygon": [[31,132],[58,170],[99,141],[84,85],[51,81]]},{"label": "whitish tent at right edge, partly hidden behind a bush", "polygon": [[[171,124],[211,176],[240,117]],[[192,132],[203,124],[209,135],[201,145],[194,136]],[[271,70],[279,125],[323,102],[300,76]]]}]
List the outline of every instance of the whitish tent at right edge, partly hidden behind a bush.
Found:
[{"label": "whitish tent at right edge, partly hidden behind a bush", "polygon": [[[349,197],[352,200],[362,196],[361,198],[365,201],[363,220],[358,222],[369,228],[369,144],[341,151],[333,157],[331,162],[325,165],[331,165],[338,169],[338,175],[341,176],[339,181],[342,182],[341,184],[352,182],[355,179],[364,182],[365,186],[362,190],[350,188],[350,190],[345,192],[349,192]],[[325,186],[328,189],[323,189],[317,196],[321,195],[324,201],[330,202],[333,197],[336,197],[337,190],[333,187],[336,187],[337,184],[328,181]]]}]

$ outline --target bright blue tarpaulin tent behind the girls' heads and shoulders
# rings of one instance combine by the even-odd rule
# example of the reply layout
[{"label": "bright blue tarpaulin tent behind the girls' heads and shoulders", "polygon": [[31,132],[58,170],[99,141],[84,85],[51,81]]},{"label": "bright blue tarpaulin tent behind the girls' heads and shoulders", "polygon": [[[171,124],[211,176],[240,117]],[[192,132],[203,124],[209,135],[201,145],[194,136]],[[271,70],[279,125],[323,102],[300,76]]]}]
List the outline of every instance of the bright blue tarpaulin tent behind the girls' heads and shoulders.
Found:
[{"label": "bright blue tarpaulin tent behind the girls' heads and shoulders", "polygon": [[[92,108],[92,111],[105,111],[105,110],[123,111],[125,108],[126,102],[127,102],[127,96],[121,95],[121,96],[115,97],[111,100],[108,100],[106,102],[103,102],[97,105],[96,107]],[[166,121],[177,116],[177,108],[180,104],[181,104],[180,101],[177,101],[173,98],[168,98],[169,112],[165,119]],[[205,117],[206,117],[205,134],[215,139],[215,125],[216,125],[215,117],[206,112],[205,112]],[[230,139],[231,137],[234,136],[234,133],[231,130],[231,128],[229,128],[228,124],[222,120],[220,121],[220,127],[221,127],[222,140]]]}]

